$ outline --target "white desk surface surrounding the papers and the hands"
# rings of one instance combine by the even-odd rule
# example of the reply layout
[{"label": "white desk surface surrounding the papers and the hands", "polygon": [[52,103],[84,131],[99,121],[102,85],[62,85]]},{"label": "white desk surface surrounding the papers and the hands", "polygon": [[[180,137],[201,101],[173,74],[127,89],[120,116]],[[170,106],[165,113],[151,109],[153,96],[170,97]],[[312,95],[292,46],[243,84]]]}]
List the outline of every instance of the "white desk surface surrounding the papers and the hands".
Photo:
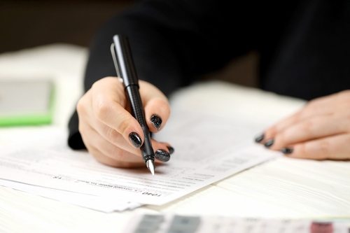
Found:
[{"label": "white desk surface surrounding the papers and the hands", "polygon": [[[52,125],[43,127],[66,131],[82,94],[86,58],[85,48],[64,44],[8,52],[0,55],[0,78],[53,78],[57,87],[55,119]],[[230,108],[225,105],[228,100]],[[206,108],[218,114],[251,119],[267,127],[297,111],[304,101],[211,82],[179,90],[171,103],[174,114],[177,109]],[[43,127],[0,128],[0,146],[20,146],[31,132]],[[119,213],[92,211],[3,186],[0,186],[0,206],[0,232],[121,232],[134,213],[350,218],[350,162],[317,162],[281,156],[169,204]]]}]

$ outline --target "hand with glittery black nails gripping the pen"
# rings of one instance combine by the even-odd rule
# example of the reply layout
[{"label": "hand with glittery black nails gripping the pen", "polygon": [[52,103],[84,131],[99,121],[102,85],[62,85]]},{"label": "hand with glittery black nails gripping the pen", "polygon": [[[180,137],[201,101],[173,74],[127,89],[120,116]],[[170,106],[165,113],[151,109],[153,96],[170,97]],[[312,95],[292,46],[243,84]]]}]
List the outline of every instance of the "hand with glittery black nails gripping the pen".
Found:
[{"label": "hand with glittery black nails gripping the pen", "polygon": [[[150,83],[140,80],[139,85],[147,125],[158,132],[169,118],[167,97]],[[144,132],[129,110],[124,86],[116,77],[98,80],[78,101],[79,132],[97,161],[113,167],[145,166],[139,149]],[[167,162],[174,151],[153,139],[152,146],[158,161]]]}]

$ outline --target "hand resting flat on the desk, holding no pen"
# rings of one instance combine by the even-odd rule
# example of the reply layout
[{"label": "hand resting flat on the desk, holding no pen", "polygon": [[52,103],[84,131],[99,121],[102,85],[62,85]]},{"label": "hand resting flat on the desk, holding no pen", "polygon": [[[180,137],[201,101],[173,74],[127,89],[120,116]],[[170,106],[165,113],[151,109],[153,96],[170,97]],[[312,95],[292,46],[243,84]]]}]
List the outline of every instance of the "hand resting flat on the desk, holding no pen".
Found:
[{"label": "hand resting flat on the desk, holding no pen", "polygon": [[350,90],[310,101],[255,141],[289,157],[350,159]]}]

